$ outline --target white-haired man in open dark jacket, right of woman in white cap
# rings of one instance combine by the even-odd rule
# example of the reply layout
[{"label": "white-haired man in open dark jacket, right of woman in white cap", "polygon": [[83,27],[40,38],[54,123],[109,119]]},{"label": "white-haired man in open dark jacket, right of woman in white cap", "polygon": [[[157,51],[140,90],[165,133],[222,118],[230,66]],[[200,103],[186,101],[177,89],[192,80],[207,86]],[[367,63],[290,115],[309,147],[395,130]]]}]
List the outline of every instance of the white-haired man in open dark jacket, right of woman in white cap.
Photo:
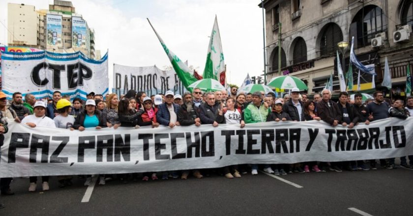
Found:
[{"label": "white-haired man in open dark jacket, right of woman in white cap", "polygon": [[283,111],[290,115],[293,121],[305,121],[304,118],[304,105],[299,100],[300,90],[293,88],[291,90],[291,100],[284,103]]}]

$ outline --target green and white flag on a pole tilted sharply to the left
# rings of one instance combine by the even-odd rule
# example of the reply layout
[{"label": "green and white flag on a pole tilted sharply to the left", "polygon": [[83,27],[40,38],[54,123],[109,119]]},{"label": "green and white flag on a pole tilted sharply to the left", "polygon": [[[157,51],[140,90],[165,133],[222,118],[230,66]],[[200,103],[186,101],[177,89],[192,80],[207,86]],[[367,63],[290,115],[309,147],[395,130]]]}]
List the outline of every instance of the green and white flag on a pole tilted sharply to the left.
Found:
[{"label": "green and white flag on a pole tilted sharply to the left", "polygon": [[186,89],[192,91],[192,89],[188,88],[188,86],[198,80],[192,75],[191,69],[189,69],[188,66],[185,63],[183,63],[176,54],[174,54],[172,51],[168,49],[168,47],[165,45],[161,37],[159,37],[158,33],[156,32],[155,28],[153,28],[150,22],[149,25],[150,27],[152,27],[153,31],[158,37],[159,42],[161,42],[161,45],[165,50],[165,53],[168,55],[168,58],[171,61],[172,67],[174,68],[175,73],[177,73],[179,80],[182,82],[183,86],[185,86]]}]

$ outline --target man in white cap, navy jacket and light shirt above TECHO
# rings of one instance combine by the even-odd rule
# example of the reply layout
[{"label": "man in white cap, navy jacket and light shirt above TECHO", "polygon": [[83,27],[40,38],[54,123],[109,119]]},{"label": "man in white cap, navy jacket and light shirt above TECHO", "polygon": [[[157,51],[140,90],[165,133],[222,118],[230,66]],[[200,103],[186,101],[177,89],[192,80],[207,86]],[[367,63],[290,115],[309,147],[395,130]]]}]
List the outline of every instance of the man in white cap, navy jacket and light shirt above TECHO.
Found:
[{"label": "man in white cap, navy jacket and light shirt above TECHO", "polygon": [[177,112],[179,105],[174,104],[174,93],[167,91],[165,93],[165,103],[158,106],[158,112],[156,113],[156,120],[165,126],[173,128],[179,125],[177,121]]}]

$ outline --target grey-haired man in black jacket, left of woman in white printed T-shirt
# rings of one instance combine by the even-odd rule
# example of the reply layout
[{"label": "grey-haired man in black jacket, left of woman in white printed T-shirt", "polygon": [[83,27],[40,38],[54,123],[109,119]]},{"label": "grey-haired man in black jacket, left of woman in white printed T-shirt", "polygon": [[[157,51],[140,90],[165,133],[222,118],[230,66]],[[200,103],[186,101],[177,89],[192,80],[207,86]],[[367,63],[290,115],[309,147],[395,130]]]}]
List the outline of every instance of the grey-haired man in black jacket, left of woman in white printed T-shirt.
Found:
[{"label": "grey-haired man in black jacket, left of woman in white printed T-shirt", "polygon": [[221,104],[215,103],[213,92],[207,93],[207,101],[200,106],[199,116],[202,124],[212,124],[214,127],[217,127],[218,124],[225,124]]}]

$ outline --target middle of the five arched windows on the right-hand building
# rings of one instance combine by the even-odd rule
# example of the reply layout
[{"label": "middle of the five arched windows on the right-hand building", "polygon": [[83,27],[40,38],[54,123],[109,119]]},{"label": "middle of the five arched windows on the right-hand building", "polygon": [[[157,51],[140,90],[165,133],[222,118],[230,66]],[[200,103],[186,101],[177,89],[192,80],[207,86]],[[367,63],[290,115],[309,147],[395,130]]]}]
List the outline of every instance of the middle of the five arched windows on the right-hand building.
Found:
[{"label": "middle of the five arched windows on the right-hand building", "polygon": [[343,41],[341,28],[335,23],[329,23],[322,28],[320,39],[320,55],[335,53],[338,42]]}]

